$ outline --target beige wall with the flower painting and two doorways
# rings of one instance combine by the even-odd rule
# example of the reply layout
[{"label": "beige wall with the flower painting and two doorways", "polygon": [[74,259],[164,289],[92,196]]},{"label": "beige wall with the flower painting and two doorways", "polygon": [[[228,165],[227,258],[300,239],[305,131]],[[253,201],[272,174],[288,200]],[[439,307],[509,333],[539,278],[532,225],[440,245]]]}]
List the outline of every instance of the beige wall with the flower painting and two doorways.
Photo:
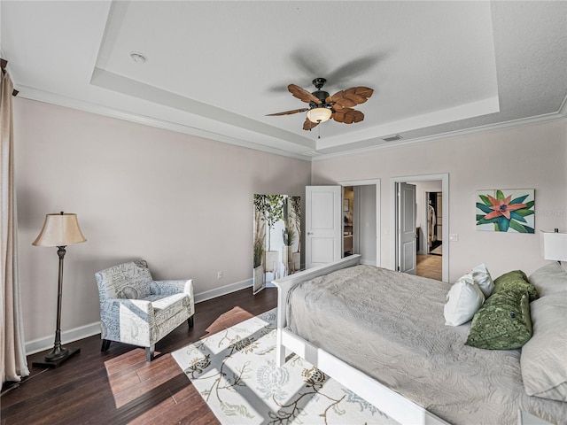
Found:
[{"label": "beige wall with the flower painting and two doorways", "polygon": [[[391,179],[445,173],[450,203],[443,224],[459,235],[458,242],[449,243],[451,282],[483,262],[493,277],[515,269],[530,274],[546,264],[540,257],[540,229],[567,231],[566,120],[315,160],[312,184],[381,179],[381,261],[389,267]],[[536,235],[478,231],[478,189],[535,189]]]}]

